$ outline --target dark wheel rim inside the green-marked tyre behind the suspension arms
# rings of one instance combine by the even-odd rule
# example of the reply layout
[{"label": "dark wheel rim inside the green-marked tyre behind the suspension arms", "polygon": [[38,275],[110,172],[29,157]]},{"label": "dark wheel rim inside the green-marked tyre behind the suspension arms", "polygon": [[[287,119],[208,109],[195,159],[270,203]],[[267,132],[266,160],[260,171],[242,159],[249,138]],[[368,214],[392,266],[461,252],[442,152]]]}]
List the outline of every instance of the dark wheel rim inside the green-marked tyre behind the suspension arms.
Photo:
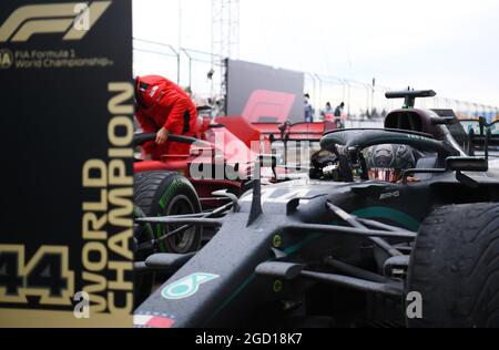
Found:
[{"label": "dark wheel rim inside the green-marked tyre behind the suspension arms", "polygon": [[[189,197],[184,195],[180,195],[173,198],[166,208],[166,215],[186,215],[194,214],[194,205],[189,199]],[[166,233],[173,231],[184,225],[167,225]],[[184,254],[191,250],[192,245],[194,243],[196,236],[196,227],[191,227],[184,230],[182,234],[174,235],[169,237],[169,245],[174,250],[174,253]]]}]

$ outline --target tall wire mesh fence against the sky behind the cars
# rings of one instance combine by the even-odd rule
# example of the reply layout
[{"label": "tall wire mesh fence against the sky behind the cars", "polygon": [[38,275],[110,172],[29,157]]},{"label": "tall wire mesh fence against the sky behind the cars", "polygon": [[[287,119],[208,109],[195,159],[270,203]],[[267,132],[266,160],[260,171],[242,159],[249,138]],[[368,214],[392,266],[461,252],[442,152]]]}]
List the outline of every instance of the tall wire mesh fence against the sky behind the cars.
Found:
[{"label": "tall wire mesh fence against the sky behind the cars", "polygon": [[[194,49],[175,48],[167,43],[133,39],[134,74],[160,74],[176,81],[192,92],[197,104],[215,104],[224,99],[225,63],[223,58]],[[407,89],[407,87],[406,87]],[[385,99],[387,91],[400,87],[380,86],[340,76],[305,72],[305,92],[315,109],[315,119],[329,102],[333,106],[345,103],[350,120],[376,120],[399,107],[400,101]],[[417,107],[451,109],[459,117],[486,116],[499,119],[499,107],[456,99],[436,96],[420,99]],[[376,122],[375,122],[376,123]]]}]

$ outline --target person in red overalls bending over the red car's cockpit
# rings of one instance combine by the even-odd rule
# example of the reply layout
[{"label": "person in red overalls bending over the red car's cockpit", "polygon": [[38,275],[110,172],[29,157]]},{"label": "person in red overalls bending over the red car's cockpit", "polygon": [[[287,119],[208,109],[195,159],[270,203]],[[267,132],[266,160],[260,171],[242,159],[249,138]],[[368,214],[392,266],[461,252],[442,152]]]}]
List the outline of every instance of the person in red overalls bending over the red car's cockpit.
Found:
[{"label": "person in red overalls bending over the red car's cockpit", "polygon": [[169,135],[195,136],[196,106],[177,84],[159,75],[135,79],[135,117],[144,133],[155,133],[155,142],[142,146],[145,159],[164,155],[186,155],[190,145],[169,142]]}]

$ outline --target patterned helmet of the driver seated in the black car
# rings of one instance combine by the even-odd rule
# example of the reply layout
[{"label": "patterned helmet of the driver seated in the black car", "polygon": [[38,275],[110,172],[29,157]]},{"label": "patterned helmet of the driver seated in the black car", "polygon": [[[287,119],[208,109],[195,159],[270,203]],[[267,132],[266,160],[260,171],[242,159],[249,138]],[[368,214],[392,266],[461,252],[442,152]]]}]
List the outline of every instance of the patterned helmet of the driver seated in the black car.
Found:
[{"label": "patterned helmet of the driver seated in the black car", "polygon": [[416,166],[413,148],[406,145],[386,144],[369,147],[366,154],[369,179],[396,183],[406,169]]}]

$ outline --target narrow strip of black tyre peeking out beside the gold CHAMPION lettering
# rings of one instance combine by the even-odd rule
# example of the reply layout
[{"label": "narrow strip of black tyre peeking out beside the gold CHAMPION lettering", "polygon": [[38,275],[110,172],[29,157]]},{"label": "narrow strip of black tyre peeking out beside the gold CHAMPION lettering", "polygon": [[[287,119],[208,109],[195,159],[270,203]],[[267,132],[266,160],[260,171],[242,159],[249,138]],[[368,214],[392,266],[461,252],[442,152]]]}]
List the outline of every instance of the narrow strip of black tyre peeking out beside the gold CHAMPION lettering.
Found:
[{"label": "narrow strip of black tyre peeking out beside the gold CHAMPION lettering", "polygon": [[[138,206],[133,207],[133,217],[144,217],[144,213]],[[145,259],[153,255],[155,250],[140,249],[141,244],[151,241],[154,239],[154,233],[150,224],[133,224],[133,250],[135,261],[145,261]],[[154,286],[154,272],[134,272],[133,277],[133,291],[134,291],[134,308],[138,308],[142,302],[151,296]]]}]

